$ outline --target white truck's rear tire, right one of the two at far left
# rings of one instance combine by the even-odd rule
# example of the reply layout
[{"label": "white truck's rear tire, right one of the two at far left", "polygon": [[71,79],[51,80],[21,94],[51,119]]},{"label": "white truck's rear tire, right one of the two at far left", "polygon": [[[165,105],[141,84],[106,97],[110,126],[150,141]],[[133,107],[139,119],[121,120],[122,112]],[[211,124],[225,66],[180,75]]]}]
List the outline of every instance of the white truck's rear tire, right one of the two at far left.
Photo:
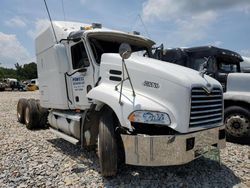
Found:
[{"label": "white truck's rear tire, right one of the two at far left", "polygon": [[27,129],[35,129],[39,126],[39,111],[35,99],[29,99],[25,108],[24,122]]}]

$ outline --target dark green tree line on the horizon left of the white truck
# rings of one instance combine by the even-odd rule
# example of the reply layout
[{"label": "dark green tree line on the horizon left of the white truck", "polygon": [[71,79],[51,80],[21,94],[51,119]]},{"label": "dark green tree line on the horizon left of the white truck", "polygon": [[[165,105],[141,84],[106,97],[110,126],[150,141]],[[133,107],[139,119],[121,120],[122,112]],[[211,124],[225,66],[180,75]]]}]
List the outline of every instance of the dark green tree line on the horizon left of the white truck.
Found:
[{"label": "dark green tree line on the horizon left of the white truck", "polygon": [[0,66],[0,80],[5,78],[15,78],[17,80],[37,78],[37,64],[35,62],[24,65],[16,63],[15,68],[4,68]]}]

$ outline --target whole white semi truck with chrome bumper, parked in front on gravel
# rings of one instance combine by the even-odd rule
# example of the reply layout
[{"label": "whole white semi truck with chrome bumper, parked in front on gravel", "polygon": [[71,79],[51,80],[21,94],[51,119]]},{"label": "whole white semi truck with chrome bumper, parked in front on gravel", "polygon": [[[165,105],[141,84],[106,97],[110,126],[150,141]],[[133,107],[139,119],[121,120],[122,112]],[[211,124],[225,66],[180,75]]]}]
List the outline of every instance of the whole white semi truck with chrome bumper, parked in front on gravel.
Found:
[{"label": "whole white semi truck with chrome bumper, parked in front on gravel", "polygon": [[103,176],[120,163],[180,165],[225,147],[221,84],[151,58],[152,40],[54,21],[35,43],[40,99],[20,99],[18,121],[96,146]]}]

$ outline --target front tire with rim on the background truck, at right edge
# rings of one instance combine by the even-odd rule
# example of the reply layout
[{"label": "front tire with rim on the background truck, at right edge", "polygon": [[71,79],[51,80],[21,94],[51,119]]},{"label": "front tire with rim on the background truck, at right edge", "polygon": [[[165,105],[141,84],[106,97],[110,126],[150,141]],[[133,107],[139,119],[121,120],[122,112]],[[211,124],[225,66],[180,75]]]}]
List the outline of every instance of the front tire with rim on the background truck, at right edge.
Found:
[{"label": "front tire with rim on the background truck, at right edge", "polygon": [[224,122],[228,139],[239,139],[250,136],[250,112],[240,106],[225,109]]}]

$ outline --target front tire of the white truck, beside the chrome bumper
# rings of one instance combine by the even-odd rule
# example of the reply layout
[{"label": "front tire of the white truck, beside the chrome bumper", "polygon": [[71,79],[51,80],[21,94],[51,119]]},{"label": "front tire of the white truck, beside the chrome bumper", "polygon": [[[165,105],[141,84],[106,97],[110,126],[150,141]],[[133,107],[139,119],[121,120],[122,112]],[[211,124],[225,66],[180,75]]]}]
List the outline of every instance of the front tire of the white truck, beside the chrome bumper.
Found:
[{"label": "front tire of the white truck, beside the chrome bumper", "polygon": [[117,173],[118,147],[111,112],[100,119],[98,136],[98,156],[103,176],[115,176]]}]

